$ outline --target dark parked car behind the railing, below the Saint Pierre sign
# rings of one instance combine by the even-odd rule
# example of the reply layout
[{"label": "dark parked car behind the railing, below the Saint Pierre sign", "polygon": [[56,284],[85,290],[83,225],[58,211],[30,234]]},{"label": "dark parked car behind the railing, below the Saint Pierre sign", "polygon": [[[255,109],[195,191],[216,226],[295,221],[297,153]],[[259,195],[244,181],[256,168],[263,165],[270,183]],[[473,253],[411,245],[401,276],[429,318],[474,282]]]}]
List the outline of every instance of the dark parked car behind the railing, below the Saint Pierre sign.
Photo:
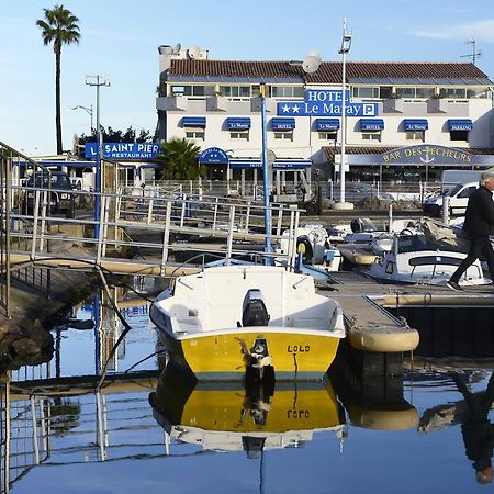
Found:
[{"label": "dark parked car behind the railing, below the Saint Pierre sign", "polygon": [[[52,177],[52,183],[48,183]],[[30,188],[50,189],[50,212],[64,213],[66,217],[72,218],[76,213],[75,197],[70,178],[65,171],[36,171],[25,182],[26,190],[21,202],[22,212],[32,214],[34,210],[35,191]]]}]

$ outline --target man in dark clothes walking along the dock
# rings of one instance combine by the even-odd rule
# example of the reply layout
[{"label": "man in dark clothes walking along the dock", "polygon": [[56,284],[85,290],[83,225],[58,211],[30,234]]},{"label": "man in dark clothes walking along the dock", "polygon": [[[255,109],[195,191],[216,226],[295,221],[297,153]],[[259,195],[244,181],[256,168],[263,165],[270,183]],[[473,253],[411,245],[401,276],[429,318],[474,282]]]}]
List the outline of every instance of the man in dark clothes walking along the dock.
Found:
[{"label": "man in dark clothes walking along the dock", "polygon": [[489,235],[494,234],[494,170],[484,171],[479,184],[479,189],[469,198],[463,223],[463,231],[470,238],[470,249],[447,283],[452,290],[462,290],[459,285],[461,276],[479,258],[486,259],[494,282],[494,250],[489,239]]}]

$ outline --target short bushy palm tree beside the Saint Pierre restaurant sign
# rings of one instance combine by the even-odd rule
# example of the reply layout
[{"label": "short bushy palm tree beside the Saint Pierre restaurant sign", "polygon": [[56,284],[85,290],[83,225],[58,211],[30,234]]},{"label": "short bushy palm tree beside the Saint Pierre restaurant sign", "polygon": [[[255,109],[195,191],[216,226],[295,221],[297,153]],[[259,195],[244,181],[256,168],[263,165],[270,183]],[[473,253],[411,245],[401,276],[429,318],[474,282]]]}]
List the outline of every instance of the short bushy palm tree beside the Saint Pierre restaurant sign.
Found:
[{"label": "short bushy palm tree beside the Saint Pierre restaurant sign", "polygon": [[199,166],[198,155],[201,148],[186,138],[175,138],[161,144],[161,154],[156,161],[162,166],[161,179],[197,180],[205,175],[205,168]]}]

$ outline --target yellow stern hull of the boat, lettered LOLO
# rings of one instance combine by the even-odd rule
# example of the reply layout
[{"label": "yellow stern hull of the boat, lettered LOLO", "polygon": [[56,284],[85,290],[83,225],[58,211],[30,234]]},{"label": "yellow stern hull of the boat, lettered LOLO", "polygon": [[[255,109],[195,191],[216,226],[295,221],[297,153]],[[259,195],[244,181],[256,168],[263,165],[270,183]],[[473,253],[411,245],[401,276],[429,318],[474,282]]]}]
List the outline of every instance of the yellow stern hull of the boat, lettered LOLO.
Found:
[{"label": "yellow stern hull of the boat, lettered LOLO", "polygon": [[[243,328],[245,329],[245,328]],[[173,339],[166,335],[170,358],[188,366],[198,380],[243,379],[246,349],[265,339],[277,380],[321,380],[335,359],[339,339],[324,334],[259,330]]]}]

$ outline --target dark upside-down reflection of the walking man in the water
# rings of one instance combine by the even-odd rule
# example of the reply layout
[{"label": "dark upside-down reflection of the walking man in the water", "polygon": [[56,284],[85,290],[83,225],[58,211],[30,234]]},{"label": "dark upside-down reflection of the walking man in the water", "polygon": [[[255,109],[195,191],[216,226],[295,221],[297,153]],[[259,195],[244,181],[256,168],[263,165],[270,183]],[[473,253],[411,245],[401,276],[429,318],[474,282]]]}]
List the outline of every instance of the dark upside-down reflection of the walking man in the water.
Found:
[{"label": "dark upside-down reflection of the walking man in the water", "polygon": [[461,425],[465,453],[473,461],[476,480],[484,484],[492,481],[494,424],[487,416],[494,401],[494,372],[485,393],[472,393],[458,374],[453,374],[453,380],[468,407],[467,418]]}]

